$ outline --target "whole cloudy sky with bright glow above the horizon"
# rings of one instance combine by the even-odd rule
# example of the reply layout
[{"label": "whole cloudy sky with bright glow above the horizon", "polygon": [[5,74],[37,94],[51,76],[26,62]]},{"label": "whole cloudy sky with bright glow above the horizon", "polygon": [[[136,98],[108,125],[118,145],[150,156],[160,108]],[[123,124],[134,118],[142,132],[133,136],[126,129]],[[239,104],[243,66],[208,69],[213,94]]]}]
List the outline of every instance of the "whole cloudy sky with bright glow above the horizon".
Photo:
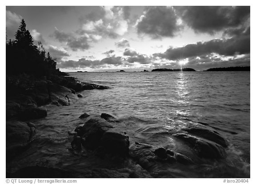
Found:
[{"label": "whole cloudy sky with bright glow above the horizon", "polygon": [[250,66],[250,6],[6,6],[63,72]]}]

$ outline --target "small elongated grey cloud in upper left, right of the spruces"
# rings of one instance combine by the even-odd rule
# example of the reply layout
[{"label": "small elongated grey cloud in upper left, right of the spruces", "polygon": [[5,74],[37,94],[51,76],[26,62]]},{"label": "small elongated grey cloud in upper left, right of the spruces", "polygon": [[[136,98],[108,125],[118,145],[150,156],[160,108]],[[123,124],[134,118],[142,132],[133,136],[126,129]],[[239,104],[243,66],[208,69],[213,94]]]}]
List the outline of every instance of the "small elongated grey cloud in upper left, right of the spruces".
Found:
[{"label": "small elongated grey cloud in upper left, right of the spruces", "polygon": [[53,33],[53,37],[60,42],[65,42],[68,45],[68,47],[72,49],[72,51],[77,51],[77,50],[84,51],[90,48],[90,45],[88,44],[89,40],[87,36],[75,37],[71,33],[65,33],[65,32],[59,31],[58,29],[55,29]]}]

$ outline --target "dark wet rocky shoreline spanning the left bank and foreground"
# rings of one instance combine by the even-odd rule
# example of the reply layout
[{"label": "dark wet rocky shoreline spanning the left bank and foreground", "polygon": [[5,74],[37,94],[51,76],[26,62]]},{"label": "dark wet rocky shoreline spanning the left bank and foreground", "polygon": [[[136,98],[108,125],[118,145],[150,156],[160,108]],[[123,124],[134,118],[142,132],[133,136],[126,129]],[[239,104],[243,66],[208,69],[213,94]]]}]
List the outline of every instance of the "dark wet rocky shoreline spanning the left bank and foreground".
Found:
[{"label": "dark wet rocky shoreline spanning the left bank and foreground", "polygon": [[[7,162],[24,152],[33,141],[36,126],[29,120],[44,118],[44,104],[68,106],[83,97],[80,91],[110,87],[79,82],[67,76],[64,85],[40,80],[40,88],[27,95],[7,98],[6,155]],[[36,96],[31,94],[36,93]],[[35,165],[13,173],[9,178],[159,178],[178,177],[169,167],[220,161],[227,156],[228,141],[206,123],[190,122],[186,128],[171,135],[176,145],[154,147],[132,141],[120,122],[111,114],[81,114],[80,124],[67,134],[72,138],[69,151],[73,156],[104,162],[106,167],[84,168],[74,171]],[[180,146],[182,145],[182,146]]]}]

